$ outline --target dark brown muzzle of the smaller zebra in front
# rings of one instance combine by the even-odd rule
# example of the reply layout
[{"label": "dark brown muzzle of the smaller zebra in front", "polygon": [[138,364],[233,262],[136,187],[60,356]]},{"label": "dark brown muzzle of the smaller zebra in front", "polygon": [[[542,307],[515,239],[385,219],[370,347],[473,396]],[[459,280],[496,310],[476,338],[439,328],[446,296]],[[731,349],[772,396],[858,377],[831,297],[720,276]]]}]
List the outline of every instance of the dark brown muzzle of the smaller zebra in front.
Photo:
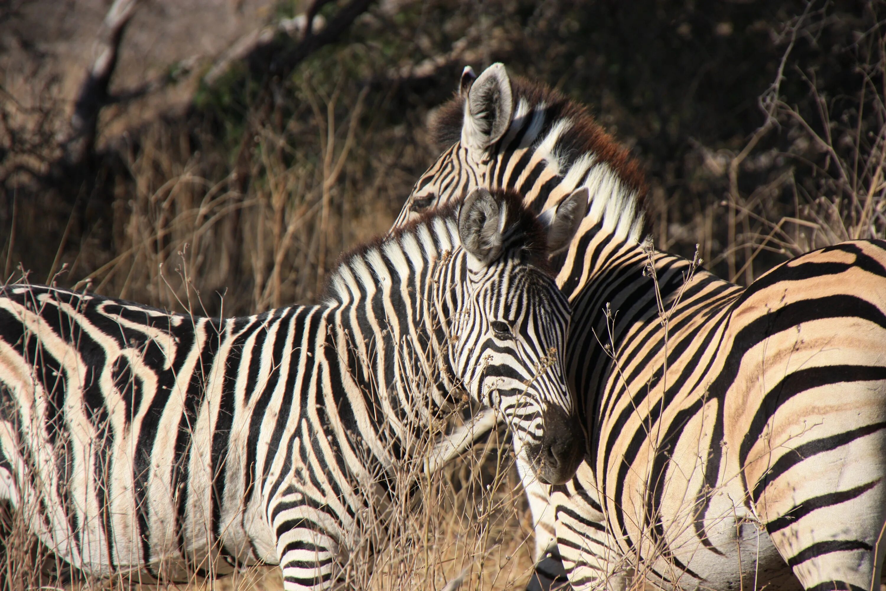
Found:
[{"label": "dark brown muzzle of the smaller zebra in front", "polygon": [[524,449],[536,478],[546,485],[562,485],[575,476],[585,458],[585,433],[577,416],[548,408],[544,435],[539,442],[527,442]]}]

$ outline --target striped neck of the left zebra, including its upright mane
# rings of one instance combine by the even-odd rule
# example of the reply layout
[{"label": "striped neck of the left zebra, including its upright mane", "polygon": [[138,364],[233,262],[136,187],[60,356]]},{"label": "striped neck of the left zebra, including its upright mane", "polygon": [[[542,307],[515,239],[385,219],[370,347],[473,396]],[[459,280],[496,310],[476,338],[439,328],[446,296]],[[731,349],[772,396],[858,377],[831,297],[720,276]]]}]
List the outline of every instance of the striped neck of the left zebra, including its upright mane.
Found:
[{"label": "striped neck of the left zebra, including its upright mane", "polygon": [[346,255],[330,277],[328,342],[354,387],[384,409],[387,428],[377,432],[400,444],[416,442],[453,402],[449,323],[462,289],[451,278],[463,276],[466,257],[455,219],[435,217]]}]

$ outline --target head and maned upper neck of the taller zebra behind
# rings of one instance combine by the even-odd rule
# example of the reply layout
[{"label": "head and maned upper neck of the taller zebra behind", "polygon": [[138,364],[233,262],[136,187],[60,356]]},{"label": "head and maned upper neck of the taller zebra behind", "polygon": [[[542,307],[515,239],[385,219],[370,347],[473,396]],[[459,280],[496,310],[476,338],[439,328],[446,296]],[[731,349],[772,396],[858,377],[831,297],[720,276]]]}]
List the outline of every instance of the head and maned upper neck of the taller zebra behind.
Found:
[{"label": "head and maned upper neck of the taller zebra behind", "polygon": [[640,168],[583,105],[556,89],[511,79],[501,64],[478,77],[466,67],[458,96],[439,108],[431,132],[447,148],[416,181],[395,228],[477,187],[517,191],[540,212],[585,186],[593,224],[605,215],[619,236],[641,235]]}]

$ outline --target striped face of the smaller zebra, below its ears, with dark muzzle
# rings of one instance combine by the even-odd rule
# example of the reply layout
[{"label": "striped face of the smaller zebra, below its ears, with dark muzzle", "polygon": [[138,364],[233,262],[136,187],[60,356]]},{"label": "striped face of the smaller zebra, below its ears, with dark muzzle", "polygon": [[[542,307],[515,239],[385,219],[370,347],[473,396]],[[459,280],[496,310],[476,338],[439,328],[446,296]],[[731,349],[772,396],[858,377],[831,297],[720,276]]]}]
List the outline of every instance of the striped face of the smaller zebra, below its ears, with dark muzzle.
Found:
[{"label": "striped face of the smaller zebra, below its ears, with dark muzzle", "polygon": [[[501,267],[509,265],[519,267]],[[476,343],[465,339],[461,354],[477,368],[471,395],[505,417],[520,460],[543,482],[561,484],[585,448],[563,370],[570,308],[553,280],[522,267],[510,269],[508,285],[494,279],[474,285],[466,317],[481,336]]]}]

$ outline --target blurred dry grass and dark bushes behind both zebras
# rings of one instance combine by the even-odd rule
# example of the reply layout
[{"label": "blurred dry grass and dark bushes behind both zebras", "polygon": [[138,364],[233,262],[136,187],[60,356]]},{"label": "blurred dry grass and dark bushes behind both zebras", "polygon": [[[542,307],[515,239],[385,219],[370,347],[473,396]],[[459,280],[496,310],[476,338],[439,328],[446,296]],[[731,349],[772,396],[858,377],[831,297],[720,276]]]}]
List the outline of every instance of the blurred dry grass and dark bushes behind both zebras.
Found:
[{"label": "blurred dry grass and dark bushes behind both zebras", "polygon": [[[32,281],[173,309],[190,282],[208,314],[311,299],[439,152],[426,122],[462,67],[494,61],[589,105],[646,170],[657,247],[699,244],[720,276],[747,283],[812,246],[882,234],[882,0],[367,2],[291,66],[304,22],[275,24],[318,8],[323,31],[354,2],[190,4],[136,9],[95,148],[73,167],[58,166],[65,81],[89,60],[70,32],[59,58],[47,23],[108,3],[2,9],[5,279],[20,264]],[[242,30],[220,20],[219,46],[195,54],[210,9]],[[91,22],[77,29],[87,57]],[[216,67],[261,27],[263,43]]]}]

